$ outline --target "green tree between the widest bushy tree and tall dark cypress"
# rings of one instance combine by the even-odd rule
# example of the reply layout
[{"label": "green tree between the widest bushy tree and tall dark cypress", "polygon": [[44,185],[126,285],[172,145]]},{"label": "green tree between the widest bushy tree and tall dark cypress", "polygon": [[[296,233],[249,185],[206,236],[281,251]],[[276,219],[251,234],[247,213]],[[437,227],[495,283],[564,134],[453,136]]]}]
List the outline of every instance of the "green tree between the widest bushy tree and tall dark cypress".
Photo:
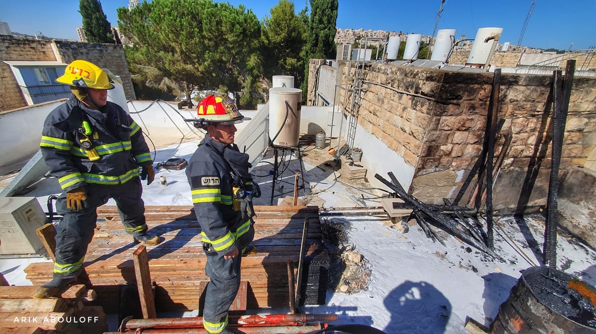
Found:
[{"label": "green tree between the widest bushy tree and tall dark cypress", "polygon": [[266,78],[291,75],[300,87],[304,78],[304,47],[308,29],[306,10],[296,15],[293,2],[280,0],[271,8],[271,17],[263,18],[261,36]]}]

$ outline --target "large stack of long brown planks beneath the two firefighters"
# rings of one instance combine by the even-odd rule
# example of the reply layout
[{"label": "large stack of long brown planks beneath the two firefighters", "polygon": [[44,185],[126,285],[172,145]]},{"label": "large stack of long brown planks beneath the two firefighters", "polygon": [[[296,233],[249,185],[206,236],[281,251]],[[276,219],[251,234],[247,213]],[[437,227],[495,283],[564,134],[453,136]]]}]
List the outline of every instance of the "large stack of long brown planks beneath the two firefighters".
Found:
[{"label": "large stack of long brown planks beneath the two firefighters", "polygon": [[[201,281],[209,281],[204,270],[206,257],[201,229],[192,209],[191,206],[145,207],[150,232],[163,240],[159,245],[147,246],[158,311],[196,309]],[[305,218],[309,219],[309,229],[301,292],[307,303],[325,303],[329,258],[322,244],[318,207],[255,206],[254,209],[257,216],[253,244],[257,254],[243,257],[241,269],[241,279],[249,282],[247,307],[288,306],[288,261],[298,267]],[[98,294],[95,303],[107,313],[116,312],[123,298],[128,298],[123,295],[124,289],[136,284],[132,253],[138,245],[123,230],[116,207],[98,209],[97,230],[84,266],[88,286]],[[25,272],[33,284],[42,285],[51,279],[52,263],[30,264]]]}]

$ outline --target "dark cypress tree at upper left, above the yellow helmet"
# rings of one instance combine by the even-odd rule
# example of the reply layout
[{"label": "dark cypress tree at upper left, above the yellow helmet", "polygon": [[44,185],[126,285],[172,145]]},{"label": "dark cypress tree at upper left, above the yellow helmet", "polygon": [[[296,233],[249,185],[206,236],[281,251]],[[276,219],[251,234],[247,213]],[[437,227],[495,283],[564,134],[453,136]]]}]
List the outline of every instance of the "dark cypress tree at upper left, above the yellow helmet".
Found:
[{"label": "dark cypress tree at upper left, above the yellow helmet", "polygon": [[89,43],[115,43],[110,23],[98,0],[80,0],[79,13],[83,18],[83,31]]}]

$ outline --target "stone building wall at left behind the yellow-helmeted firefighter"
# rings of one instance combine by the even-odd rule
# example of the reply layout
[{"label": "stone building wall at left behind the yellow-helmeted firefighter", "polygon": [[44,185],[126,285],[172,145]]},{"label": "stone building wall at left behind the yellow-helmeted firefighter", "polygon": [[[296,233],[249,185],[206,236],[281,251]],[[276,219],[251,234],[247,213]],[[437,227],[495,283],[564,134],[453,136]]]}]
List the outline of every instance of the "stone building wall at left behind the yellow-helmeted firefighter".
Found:
[{"label": "stone building wall at left behind the yellow-helmeted firefighter", "polygon": [[0,37],[0,111],[27,106],[10,65],[3,61],[60,61],[85,59],[108,68],[123,81],[126,99],[136,99],[122,45]]}]

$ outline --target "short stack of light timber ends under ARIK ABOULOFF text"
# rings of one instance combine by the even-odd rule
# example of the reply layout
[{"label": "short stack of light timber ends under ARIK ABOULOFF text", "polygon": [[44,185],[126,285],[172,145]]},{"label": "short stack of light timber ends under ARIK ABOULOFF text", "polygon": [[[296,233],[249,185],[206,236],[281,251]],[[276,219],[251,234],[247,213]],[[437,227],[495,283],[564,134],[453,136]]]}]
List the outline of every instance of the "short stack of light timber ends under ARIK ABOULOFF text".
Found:
[{"label": "short stack of light timber ends under ARIK ABOULOFF text", "polygon": [[0,333],[100,334],[104,311],[90,306],[95,292],[73,285],[58,298],[33,299],[37,286],[0,286]]}]

